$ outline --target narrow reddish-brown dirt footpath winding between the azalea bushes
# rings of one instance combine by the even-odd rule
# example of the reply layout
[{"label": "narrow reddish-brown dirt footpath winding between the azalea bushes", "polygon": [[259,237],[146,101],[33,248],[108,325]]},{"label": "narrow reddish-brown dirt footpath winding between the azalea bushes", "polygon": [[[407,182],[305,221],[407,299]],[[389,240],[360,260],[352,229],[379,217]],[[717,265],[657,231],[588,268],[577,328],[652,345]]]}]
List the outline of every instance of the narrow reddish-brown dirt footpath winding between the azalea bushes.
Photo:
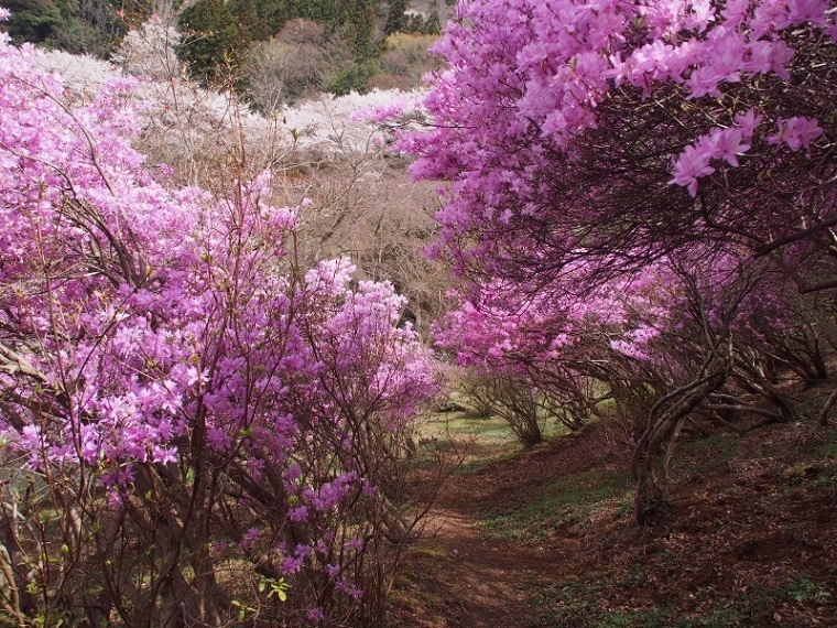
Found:
[{"label": "narrow reddish-brown dirt footpath winding between the azalea bushes", "polygon": [[[555,457],[548,458],[552,466]],[[421,628],[531,628],[526,589],[555,582],[564,565],[556,548],[488,541],[480,530],[487,512],[503,509],[519,491],[554,477],[537,454],[452,479],[428,518],[427,544],[407,556],[416,583],[414,615],[402,626]],[[412,562],[412,564],[411,564]]]}]

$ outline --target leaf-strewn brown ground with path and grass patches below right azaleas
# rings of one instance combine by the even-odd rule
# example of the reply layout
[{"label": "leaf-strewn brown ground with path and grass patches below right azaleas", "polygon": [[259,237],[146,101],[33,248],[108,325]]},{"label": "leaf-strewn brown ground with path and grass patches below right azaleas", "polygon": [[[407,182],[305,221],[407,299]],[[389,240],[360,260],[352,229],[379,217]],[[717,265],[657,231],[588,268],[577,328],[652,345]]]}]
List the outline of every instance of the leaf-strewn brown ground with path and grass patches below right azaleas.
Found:
[{"label": "leaf-strewn brown ground with path and grass patches below right azaleas", "polygon": [[687,435],[667,505],[639,527],[612,426],[524,452],[467,423],[467,462],[403,557],[394,626],[837,627],[837,427]]}]

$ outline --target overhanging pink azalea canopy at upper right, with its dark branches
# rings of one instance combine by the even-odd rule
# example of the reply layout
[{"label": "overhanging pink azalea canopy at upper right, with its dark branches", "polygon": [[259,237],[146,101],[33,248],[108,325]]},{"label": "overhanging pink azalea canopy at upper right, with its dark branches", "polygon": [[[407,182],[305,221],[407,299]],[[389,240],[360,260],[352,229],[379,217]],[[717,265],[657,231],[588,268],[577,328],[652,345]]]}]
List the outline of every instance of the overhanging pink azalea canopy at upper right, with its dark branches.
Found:
[{"label": "overhanging pink azalea canopy at upper right, with its dark branches", "polygon": [[452,182],[437,252],[494,273],[635,267],[826,228],[835,37],[827,0],[461,2],[435,128],[401,141],[417,177]]}]

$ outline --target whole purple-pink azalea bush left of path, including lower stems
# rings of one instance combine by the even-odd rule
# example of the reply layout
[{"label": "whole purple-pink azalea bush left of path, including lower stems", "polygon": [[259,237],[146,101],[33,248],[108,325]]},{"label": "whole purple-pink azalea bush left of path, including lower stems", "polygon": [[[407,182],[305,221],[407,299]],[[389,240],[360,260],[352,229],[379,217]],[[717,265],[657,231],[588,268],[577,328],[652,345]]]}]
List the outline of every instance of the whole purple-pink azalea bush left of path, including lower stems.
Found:
[{"label": "whole purple-pink azalea bush left of path, including lower stems", "polygon": [[0,456],[37,478],[0,502],[35,513],[0,517],[15,611],[96,589],[96,624],[220,625],[246,593],[217,578],[230,564],[252,604],[300,573],[303,616],[357,603],[358,556],[398,531],[370,452],[436,390],[403,300],[352,286],[348,260],[297,269],[300,209],[270,205],[269,174],[157,181],[133,82],[81,101],[36,54],[0,35]]}]

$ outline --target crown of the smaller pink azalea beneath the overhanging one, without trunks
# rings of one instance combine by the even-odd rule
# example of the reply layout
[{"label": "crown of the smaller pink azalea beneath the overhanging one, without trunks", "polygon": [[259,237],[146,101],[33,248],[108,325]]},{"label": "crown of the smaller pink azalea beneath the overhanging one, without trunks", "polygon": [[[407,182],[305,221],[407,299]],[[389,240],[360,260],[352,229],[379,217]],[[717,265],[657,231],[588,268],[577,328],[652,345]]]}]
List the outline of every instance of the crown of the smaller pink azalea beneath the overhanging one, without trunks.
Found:
[{"label": "crown of the smaller pink azalea beneath the overhanging one, without trunks", "polygon": [[452,295],[458,306],[435,326],[437,345],[472,372],[514,373],[564,403],[595,405],[587,385],[619,402],[627,382],[667,390],[717,338],[747,364],[759,353],[775,360],[808,333],[782,275],[753,268],[746,251],[695,250],[685,267],[663,260],[584,295],[568,292],[590,283],[576,272],[550,291],[493,281]]}]

